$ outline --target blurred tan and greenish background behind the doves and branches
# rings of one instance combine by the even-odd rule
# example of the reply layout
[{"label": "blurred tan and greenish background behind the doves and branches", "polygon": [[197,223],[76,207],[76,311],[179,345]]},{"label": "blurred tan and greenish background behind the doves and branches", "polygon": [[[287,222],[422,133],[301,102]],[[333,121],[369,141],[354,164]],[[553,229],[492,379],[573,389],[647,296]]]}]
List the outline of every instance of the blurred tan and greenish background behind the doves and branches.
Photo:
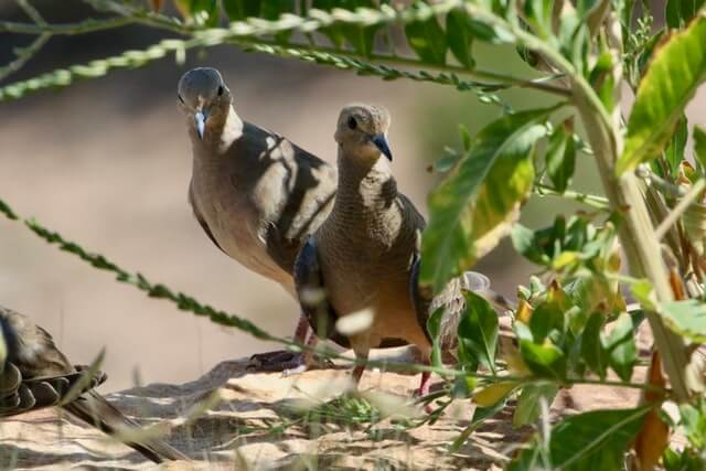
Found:
[{"label": "blurred tan and greenish background behind the doves and branches", "polygon": [[[77,21],[89,12],[75,0],[34,4],[52,22]],[[0,2],[0,18],[28,21],[9,1]],[[162,38],[139,26],[55,36],[4,84],[145,49]],[[8,63],[12,49],[32,39],[0,34],[0,63]],[[527,72],[514,49],[475,46],[475,53],[483,68]],[[496,106],[451,87],[357,77],[233,46],[192,51],[185,64],[168,56],[139,69],[115,71],[0,104],[0,199],[128,270],[279,335],[293,331],[295,300],[222,254],[203,234],[186,201],[191,143],[176,107],[176,82],[189,68],[205,65],[223,72],[244,119],[282,133],[329,162],[335,161],[333,128],[343,105],[386,106],[393,116],[389,139],[399,189],[425,214],[426,195],[439,179],[427,168],[443,156],[445,146],[460,147],[458,124],[475,133],[500,115]],[[548,98],[532,92],[502,96],[516,108]],[[702,89],[687,111],[692,124],[705,122],[705,106]],[[574,186],[601,193],[590,157],[579,156]],[[522,222],[542,227],[576,207],[535,196]],[[535,270],[507,240],[477,269],[507,296]],[[136,382],[186,382],[221,361],[278,347],[149,299],[1,217],[0,303],[31,315],[76,363],[90,362],[105,346],[104,370],[110,378],[105,390]]]}]

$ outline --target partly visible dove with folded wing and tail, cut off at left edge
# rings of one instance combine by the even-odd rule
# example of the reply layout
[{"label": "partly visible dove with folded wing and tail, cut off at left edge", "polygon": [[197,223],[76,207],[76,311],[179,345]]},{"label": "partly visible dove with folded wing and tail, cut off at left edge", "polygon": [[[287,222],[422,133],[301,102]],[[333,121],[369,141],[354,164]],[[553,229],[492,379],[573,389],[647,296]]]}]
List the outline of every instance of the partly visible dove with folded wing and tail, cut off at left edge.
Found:
[{"label": "partly visible dove with folded wing and tail, cut off at left edge", "polygon": [[[44,329],[0,307],[0,418],[56,406],[105,433],[129,435],[139,424],[93,390],[105,379],[101,372],[73,366]],[[156,463],[189,460],[162,440],[117,438]]]}]

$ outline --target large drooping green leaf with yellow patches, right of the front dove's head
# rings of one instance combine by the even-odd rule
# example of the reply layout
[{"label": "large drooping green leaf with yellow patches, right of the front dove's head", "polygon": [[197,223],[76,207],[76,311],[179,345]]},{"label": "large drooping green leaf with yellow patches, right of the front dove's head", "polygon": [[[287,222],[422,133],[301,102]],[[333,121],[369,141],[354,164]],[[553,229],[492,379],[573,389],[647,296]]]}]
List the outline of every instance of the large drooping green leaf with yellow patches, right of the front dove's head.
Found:
[{"label": "large drooping green leaf with yellow patches, right of the front dove's head", "polygon": [[470,152],[429,197],[420,280],[436,291],[510,232],[532,190],[535,142],[549,110],[507,115],[483,128]]}]

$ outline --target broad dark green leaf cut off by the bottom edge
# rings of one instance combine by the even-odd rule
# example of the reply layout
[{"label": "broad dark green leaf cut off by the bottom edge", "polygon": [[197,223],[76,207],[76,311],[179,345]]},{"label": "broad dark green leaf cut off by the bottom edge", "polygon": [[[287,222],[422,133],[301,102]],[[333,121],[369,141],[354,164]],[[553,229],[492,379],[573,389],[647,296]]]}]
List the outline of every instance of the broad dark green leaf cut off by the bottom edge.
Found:
[{"label": "broad dark green leaf cut off by the bottom edge", "polygon": [[[651,407],[637,409],[595,410],[564,419],[552,429],[549,462],[563,471],[622,470],[624,454],[642,426]],[[541,440],[539,440],[541,441]],[[536,445],[539,445],[535,441]],[[535,445],[535,446],[536,446]],[[528,462],[534,456],[526,449],[513,464]],[[533,464],[530,464],[533,465]],[[513,470],[536,468],[512,467]]]}]

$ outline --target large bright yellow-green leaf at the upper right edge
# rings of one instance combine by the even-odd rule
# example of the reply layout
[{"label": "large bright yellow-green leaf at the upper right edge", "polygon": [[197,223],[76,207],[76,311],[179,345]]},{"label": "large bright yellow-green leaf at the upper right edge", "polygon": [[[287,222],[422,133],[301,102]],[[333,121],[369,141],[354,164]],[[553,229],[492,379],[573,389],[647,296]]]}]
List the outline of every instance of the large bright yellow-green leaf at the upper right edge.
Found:
[{"label": "large bright yellow-green leaf at the upper right edge", "polygon": [[654,55],[628,120],[625,148],[618,174],[657,156],[672,136],[684,108],[706,79],[706,18],[699,15],[673,34]]}]

